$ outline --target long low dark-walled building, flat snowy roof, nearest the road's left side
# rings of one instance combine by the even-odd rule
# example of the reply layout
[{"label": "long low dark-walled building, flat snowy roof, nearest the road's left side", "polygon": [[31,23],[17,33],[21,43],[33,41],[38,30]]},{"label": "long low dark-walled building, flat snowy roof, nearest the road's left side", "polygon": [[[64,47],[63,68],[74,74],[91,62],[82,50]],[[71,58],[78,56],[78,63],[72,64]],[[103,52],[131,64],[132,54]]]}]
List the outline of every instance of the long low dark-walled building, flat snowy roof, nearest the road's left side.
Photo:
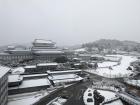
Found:
[{"label": "long low dark-walled building, flat snowy roof, nearest the road's left side", "polygon": [[39,79],[27,79],[23,80],[19,86],[10,87],[8,89],[9,95],[27,93],[27,92],[35,92],[43,89],[47,89],[51,86],[50,81],[47,78],[39,78]]}]

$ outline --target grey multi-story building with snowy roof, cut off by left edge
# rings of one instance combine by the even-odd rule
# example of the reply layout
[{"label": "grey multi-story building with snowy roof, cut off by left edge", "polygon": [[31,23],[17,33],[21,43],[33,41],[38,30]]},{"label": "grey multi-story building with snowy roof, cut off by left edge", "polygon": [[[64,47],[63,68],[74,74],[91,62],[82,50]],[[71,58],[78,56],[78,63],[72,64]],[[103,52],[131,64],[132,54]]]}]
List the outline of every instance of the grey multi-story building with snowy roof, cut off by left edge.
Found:
[{"label": "grey multi-story building with snowy roof, cut off by left edge", "polygon": [[8,102],[8,71],[10,68],[0,66],[0,105]]}]

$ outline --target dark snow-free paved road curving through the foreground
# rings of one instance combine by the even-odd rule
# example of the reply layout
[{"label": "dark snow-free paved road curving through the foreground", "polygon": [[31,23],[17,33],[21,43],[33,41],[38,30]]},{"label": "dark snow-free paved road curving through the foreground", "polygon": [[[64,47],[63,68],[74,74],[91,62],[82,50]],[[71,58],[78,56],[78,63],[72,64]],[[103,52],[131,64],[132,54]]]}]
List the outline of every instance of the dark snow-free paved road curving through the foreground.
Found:
[{"label": "dark snow-free paved road curving through the foreground", "polygon": [[34,105],[46,105],[54,98],[61,96],[63,93],[69,94],[70,98],[65,103],[65,105],[84,105],[83,102],[83,93],[91,85],[91,81],[79,82],[73,86],[61,89],[57,92],[50,94],[49,96],[43,98],[41,101]]}]

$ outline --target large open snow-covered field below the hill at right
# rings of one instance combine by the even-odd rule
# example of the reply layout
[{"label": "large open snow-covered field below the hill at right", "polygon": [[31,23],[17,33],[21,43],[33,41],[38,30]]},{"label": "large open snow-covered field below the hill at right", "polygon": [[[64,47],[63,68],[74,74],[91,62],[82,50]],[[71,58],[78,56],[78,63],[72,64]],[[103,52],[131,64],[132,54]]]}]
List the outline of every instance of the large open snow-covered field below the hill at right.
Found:
[{"label": "large open snow-covered field below the hill at right", "polygon": [[[115,77],[127,77],[130,74],[132,74],[133,72],[130,70],[127,70],[127,68],[130,66],[130,63],[133,61],[136,61],[137,58],[133,57],[133,56],[125,56],[125,55],[112,55],[112,56],[117,56],[117,57],[121,57],[122,60],[120,61],[120,65],[117,66],[112,66],[112,70],[110,70],[109,68],[98,68],[97,70],[87,70],[90,73],[94,73],[94,74],[98,74],[101,76],[105,76],[105,77],[111,77],[111,78],[115,78]],[[111,65],[110,63],[106,63],[104,65]]]}]

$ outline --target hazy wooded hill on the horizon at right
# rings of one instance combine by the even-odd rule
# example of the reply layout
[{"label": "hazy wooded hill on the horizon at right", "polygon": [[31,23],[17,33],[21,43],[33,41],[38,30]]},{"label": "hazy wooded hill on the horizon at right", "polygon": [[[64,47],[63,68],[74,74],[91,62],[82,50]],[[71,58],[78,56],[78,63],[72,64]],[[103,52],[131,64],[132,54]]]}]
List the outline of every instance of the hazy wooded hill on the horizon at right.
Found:
[{"label": "hazy wooded hill on the horizon at right", "polygon": [[119,41],[112,39],[100,39],[95,42],[85,43],[82,47],[99,48],[99,49],[119,49],[123,51],[140,52],[140,43],[134,41]]}]

